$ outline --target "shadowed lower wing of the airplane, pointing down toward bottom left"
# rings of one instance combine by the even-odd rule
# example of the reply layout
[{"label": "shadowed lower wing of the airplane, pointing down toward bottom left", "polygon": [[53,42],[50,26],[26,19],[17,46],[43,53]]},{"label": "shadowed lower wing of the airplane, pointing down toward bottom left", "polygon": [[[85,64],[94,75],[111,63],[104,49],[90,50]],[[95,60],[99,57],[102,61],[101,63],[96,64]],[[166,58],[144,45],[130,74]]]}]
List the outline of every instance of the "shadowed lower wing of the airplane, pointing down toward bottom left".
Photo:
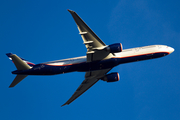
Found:
[{"label": "shadowed lower wing of the airplane, pointing down toward bottom left", "polygon": [[86,72],[85,80],[81,83],[81,85],[78,87],[75,93],[71,96],[71,98],[62,106],[69,105],[76,98],[78,98],[80,95],[86,92],[91,86],[93,86],[100,78],[102,78],[110,70],[111,69],[104,69],[104,70]]}]

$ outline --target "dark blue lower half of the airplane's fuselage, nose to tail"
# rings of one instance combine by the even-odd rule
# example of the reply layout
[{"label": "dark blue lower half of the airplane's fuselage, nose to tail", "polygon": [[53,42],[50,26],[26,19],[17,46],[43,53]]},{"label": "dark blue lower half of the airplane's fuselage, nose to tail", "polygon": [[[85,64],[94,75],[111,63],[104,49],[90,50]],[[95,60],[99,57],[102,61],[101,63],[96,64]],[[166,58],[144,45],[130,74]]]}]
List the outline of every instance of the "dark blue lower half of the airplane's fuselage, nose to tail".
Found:
[{"label": "dark blue lower half of the airplane's fuselage, nose to tail", "polygon": [[136,62],[141,60],[153,59],[163,57],[168,55],[168,52],[157,52],[129,57],[116,57],[105,60],[93,61],[93,62],[81,62],[75,64],[65,64],[65,65],[48,65],[48,64],[37,64],[28,70],[16,70],[13,71],[13,74],[21,74],[21,75],[55,75],[55,74],[63,74],[69,72],[88,72],[88,71],[96,71],[103,70],[108,68],[113,68],[119,64]]}]

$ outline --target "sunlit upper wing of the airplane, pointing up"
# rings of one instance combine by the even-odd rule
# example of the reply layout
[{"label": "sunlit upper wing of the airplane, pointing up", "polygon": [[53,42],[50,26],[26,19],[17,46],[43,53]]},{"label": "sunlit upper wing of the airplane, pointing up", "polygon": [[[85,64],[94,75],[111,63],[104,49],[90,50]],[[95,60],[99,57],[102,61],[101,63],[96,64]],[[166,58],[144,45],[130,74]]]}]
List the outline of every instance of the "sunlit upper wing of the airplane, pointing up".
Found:
[{"label": "sunlit upper wing of the airplane, pointing up", "polygon": [[89,26],[77,15],[76,12],[68,10],[74,18],[79,34],[87,48],[87,62],[102,60],[112,57],[112,54],[104,50],[106,44],[89,28]]}]

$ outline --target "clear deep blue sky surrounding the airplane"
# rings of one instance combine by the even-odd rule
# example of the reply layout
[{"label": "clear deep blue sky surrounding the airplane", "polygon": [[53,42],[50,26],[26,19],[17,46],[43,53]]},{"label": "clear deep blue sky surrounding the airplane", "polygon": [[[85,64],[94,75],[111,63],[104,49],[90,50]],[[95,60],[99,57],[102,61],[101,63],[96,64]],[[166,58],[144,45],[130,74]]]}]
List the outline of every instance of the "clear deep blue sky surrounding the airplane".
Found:
[{"label": "clear deep blue sky surrounding the airplane", "polygon": [[[180,1],[178,0],[2,0],[0,1],[0,119],[180,119]],[[108,45],[124,49],[162,44],[175,52],[123,64],[120,81],[99,81],[68,106],[60,107],[84,73],[28,76],[8,88],[12,52],[34,63],[83,56],[86,48],[67,9],[76,11]]]}]

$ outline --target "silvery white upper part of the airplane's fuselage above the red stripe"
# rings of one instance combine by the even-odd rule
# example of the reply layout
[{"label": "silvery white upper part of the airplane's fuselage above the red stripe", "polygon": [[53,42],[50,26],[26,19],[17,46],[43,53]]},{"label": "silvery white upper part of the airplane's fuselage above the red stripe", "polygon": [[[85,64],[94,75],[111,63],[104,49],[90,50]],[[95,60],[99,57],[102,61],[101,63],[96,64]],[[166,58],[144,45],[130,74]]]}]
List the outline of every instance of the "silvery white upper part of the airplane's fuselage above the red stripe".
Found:
[{"label": "silvery white upper part of the airplane's fuselage above the red stripe", "polygon": [[[173,48],[168,47],[166,45],[150,45],[144,47],[124,49],[122,52],[114,53],[115,56],[113,56],[113,58],[129,58],[129,57],[142,56],[142,55],[148,56],[148,55],[153,55],[155,53],[170,54],[173,51],[174,51]],[[64,65],[80,64],[83,62],[86,62],[86,56],[56,60],[56,61],[46,62],[44,64],[50,66],[64,66]]]}]

